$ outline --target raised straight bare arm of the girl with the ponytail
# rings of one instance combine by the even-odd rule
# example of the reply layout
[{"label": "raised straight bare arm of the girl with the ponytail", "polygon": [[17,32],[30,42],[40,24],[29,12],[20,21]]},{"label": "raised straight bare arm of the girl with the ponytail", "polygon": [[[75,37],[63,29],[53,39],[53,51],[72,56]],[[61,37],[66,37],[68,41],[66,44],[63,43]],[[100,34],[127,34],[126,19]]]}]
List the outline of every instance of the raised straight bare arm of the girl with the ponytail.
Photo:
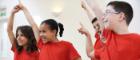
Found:
[{"label": "raised straight bare arm of the girl with the ponytail", "polygon": [[19,3],[19,6],[20,6],[21,10],[24,12],[24,14],[27,18],[27,21],[32,26],[35,38],[38,42],[38,40],[39,40],[39,28],[38,28],[37,24],[35,23],[34,19],[32,18],[31,14],[29,13],[28,9],[25,6],[23,6],[23,4],[21,2]]}]

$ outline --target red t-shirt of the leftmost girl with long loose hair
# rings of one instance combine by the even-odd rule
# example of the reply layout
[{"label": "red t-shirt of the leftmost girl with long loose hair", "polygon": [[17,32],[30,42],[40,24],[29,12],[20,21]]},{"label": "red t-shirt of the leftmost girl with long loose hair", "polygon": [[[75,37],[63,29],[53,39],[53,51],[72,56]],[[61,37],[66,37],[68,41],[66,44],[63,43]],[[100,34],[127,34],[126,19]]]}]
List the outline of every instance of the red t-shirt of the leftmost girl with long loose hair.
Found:
[{"label": "red t-shirt of the leftmost girl with long loose hair", "polygon": [[12,47],[12,51],[14,52],[14,60],[38,60],[39,52],[31,52],[28,53],[25,49],[18,53],[15,46]]}]

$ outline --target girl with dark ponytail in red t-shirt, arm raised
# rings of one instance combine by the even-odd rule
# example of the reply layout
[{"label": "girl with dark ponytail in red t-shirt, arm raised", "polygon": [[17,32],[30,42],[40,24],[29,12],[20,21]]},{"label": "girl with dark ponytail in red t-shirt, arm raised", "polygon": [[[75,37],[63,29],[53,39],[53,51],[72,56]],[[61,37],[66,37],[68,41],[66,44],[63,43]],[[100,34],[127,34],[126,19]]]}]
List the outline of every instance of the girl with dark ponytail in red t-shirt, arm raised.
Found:
[{"label": "girl with dark ponytail in red t-shirt, arm raised", "polygon": [[27,8],[23,5],[20,5],[20,8],[28,18],[38,41],[39,60],[81,60],[71,43],[57,39],[57,33],[59,32],[61,37],[64,31],[61,23],[57,23],[54,19],[47,19],[41,23],[38,29]]}]

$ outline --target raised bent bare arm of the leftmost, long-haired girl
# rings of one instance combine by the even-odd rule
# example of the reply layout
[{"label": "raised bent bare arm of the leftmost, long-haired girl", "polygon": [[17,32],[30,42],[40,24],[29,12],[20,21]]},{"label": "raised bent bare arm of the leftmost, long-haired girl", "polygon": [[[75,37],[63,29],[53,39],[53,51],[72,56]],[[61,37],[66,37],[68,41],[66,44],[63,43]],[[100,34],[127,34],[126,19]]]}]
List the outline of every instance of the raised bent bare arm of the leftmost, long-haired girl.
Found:
[{"label": "raised bent bare arm of the leftmost, long-haired girl", "polygon": [[8,19],[7,33],[8,33],[11,44],[13,44],[14,41],[16,40],[14,33],[13,33],[13,24],[14,24],[14,16],[19,10],[20,10],[20,8],[18,6],[15,6]]}]

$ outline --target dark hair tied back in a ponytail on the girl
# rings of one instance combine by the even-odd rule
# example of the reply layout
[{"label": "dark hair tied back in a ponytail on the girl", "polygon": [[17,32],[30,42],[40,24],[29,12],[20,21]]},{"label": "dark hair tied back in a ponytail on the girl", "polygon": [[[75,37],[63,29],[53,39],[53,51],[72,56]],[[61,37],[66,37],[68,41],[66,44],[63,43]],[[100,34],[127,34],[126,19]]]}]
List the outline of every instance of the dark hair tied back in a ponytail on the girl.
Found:
[{"label": "dark hair tied back in a ponytail on the girl", "polygon": [[44,24],[44,23],[49,25],[49,28],[51,30],[56,30],[56,35],[58,33],[58,29],[60,29],[59,35],[60,35],[60,37],[62,37],[63,31],[64,31],[63,24],[57,23],[54,19],[44,20],[41,24]]}]

